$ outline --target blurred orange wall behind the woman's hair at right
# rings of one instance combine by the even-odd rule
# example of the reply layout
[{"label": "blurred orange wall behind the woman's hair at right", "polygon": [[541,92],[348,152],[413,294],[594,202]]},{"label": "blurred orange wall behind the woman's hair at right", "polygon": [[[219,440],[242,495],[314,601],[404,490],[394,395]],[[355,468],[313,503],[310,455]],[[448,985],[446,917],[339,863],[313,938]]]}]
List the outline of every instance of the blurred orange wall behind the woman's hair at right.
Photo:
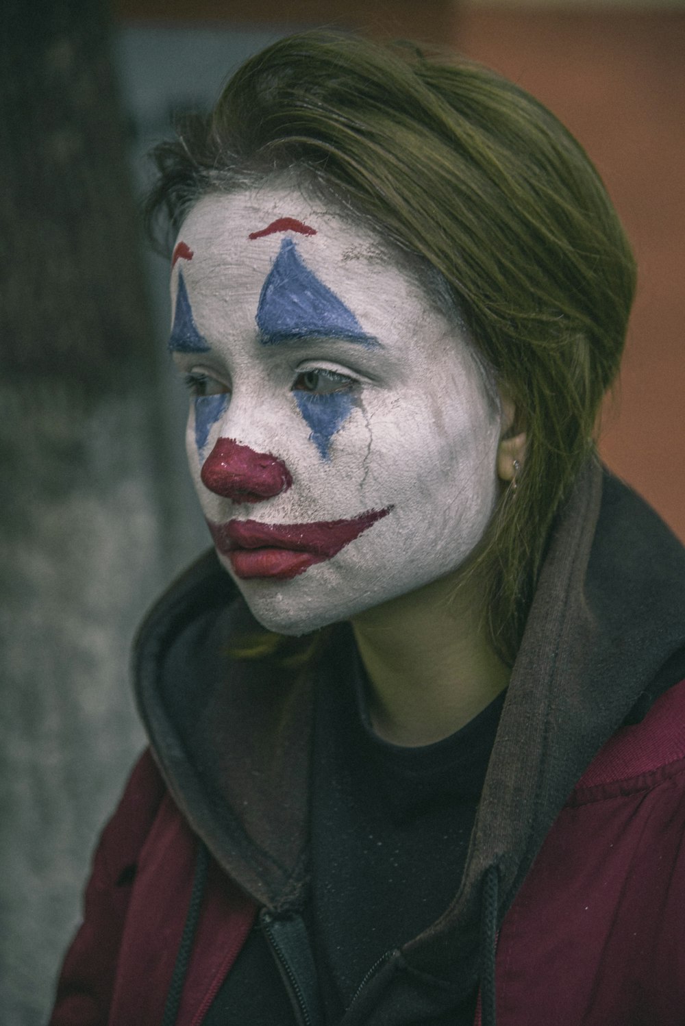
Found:
[{"label": "blurred orange wall behind the woman's hair at right", "polygon": [[685,541],[685,12],[462,7],[454,35],[568,125],[613,197],[640,279],[601,449]]}]

